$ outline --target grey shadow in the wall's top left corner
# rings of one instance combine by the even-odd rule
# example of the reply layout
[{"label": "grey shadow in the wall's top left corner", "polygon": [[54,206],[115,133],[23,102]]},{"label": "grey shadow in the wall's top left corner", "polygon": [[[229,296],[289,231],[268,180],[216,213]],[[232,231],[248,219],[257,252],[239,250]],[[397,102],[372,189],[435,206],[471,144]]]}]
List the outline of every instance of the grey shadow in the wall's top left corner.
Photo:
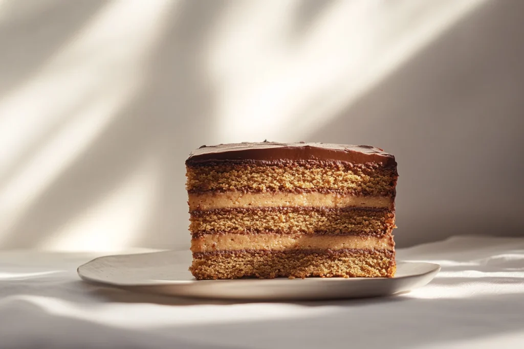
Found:
[{"label": "grey shadow in the wall's top left corner", "polygon": [[103,0],[17,0],[0,22],[0,98],[38,72],[93,16]]}]

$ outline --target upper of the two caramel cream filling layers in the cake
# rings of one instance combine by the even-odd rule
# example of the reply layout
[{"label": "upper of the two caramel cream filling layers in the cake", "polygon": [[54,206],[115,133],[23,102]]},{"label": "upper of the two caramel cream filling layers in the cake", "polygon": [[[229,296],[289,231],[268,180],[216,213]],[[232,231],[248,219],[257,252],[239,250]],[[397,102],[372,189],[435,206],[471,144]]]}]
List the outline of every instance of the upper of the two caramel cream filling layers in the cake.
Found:
[{"label": "upper of the two caramel cream filling layers in the cake", "polygon": [[354,196],[336,193],[191,193],[189,210],[250,207],[391,207],[393,199],[387,196]]}]

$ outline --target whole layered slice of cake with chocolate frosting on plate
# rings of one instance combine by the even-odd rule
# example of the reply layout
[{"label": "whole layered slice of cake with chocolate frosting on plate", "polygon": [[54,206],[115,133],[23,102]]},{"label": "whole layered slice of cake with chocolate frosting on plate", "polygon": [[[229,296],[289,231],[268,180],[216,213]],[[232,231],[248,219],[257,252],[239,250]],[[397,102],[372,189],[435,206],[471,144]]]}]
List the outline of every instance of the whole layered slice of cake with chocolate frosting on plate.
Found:
[{"label": "whole layered slice of cake with chocolate frosting on plate", "polygon": [[185,165],[196,279],[394,276],[393,155],[241,143],[204,145]]}]

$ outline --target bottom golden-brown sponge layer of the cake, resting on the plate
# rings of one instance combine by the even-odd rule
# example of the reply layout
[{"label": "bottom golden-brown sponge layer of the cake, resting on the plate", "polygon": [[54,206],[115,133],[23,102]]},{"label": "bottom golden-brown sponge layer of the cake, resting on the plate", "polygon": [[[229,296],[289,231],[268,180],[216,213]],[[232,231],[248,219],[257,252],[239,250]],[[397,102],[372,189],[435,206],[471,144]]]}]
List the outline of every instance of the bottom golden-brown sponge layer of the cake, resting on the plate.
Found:
[{"label": "bottom golden-brown sponge layer of the cake, resting on the plate", "polygon": [[257,277],[393,277],[395,252],[337,251],[216,251],[193,253],[189,271],[198,280]]}]

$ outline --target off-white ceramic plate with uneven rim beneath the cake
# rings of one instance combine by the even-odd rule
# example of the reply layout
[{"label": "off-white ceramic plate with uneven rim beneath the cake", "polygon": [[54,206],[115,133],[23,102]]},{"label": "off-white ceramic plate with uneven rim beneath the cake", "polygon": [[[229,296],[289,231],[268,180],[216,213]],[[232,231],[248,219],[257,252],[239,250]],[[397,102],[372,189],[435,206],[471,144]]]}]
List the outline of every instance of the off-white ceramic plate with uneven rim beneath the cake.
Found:
[{"label": "off-white ceramic plate with uneven rim beneath the cake", "polygon": [[424,286],[438,264],[397,261],[394,278],[237,279],[197,281],[188,271],[191,254],[163,251],[96,258],[78,268],[88,282],[159,295],[307,300],[389,296]]}]

